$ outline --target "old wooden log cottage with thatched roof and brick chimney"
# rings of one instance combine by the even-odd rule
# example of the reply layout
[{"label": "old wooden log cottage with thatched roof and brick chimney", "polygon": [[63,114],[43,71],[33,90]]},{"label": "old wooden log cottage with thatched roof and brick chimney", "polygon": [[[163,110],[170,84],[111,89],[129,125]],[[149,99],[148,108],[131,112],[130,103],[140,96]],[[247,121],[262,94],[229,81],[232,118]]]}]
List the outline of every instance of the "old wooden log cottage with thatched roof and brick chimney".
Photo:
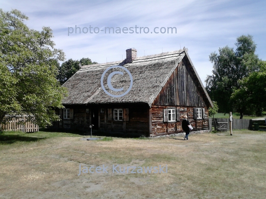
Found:
[{"label": "old wooden log cottage with thatched roof and brick chimney", "polygon": [[[153,137],[183,132],[186,114],[193,131],[208,129],[213,105],[186,48],[144,57],[136,57],[135,49],[126,52],[122,61],[82,66],[63,85],[69,94],[58,127],[88,131],[94,124],[106,133]],[[132,79],[123,68],[108,69],[115,65]]]}]

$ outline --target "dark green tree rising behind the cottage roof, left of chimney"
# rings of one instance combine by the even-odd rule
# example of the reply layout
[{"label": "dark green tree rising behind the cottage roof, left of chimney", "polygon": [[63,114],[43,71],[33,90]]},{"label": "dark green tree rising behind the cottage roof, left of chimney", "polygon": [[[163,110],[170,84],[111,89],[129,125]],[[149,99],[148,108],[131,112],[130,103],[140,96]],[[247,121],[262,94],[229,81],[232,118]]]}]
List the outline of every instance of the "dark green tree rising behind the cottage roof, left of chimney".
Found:
[{"label": "dark green tree rising behind the cottage roof, left of chimney", "polygon": [[63,62],[59,67],[59,74],[57,79],[60,84],[63,85],[72,75],[74,75],[79,69],[80,65],[90,65],[95,64],[97,62],[92,62],[90,58],[81,58],[80,60],[68,59]]}]

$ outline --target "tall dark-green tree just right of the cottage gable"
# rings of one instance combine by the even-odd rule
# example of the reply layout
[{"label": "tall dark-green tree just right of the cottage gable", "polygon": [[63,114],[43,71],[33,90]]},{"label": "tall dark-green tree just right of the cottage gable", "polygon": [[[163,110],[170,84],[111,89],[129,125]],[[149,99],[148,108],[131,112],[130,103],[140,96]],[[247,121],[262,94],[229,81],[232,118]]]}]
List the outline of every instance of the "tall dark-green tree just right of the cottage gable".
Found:
[{"label": "tall dark-green tree just right of the cottage gable", "polygon": [[258,71],[259,58],[255,55],[256,44],[251,35],[242,35],[236,41],[235,51],[226,46],[219,48],[219,54],[211,53],[209,59],[213,63],[213,74],[207,76],[205,82],[210,97],[217,101],[221,112],[229,113],[234,110],[243,118],[246,109],[236,106],[236,99],[231,98],[231,95],[234,90],[239,89],[239,80]]}]

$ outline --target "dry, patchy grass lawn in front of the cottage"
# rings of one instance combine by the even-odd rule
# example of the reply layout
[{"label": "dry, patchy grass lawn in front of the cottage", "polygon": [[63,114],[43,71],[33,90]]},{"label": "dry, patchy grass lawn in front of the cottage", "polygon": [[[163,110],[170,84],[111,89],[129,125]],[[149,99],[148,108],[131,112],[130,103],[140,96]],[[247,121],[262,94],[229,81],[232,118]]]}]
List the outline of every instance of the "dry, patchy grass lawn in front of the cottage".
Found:
[{"label": "dry, patchy grass lawn in front of the cottage", "polygon": [[[81,140],[69,133],[0,133],[0,199],[264,199],[266,132],[169,139]],[[162,167],[117,173],[112,166]],[[79,165],[94,173],[79,174]],[[108,173],[97,173],[100,166]],[[119,171],[119,167],[117,168]],[[143,169],[144,170],[144,169]],[[84,170],[85,171],[85,170]],[[135,170],[136,171],[136,170]]]}]

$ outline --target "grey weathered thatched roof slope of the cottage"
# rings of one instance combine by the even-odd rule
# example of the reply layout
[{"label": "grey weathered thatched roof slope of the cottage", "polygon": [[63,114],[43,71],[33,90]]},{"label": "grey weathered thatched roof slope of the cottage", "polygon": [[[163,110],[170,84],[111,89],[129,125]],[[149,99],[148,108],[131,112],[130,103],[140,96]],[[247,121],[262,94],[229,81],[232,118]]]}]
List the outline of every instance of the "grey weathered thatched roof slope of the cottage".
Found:
[{"label": "grey weathered thatched roof slope of the cottage", "polygon": [[[68,97],[63,104],[102,104],[102,103],[147,103],[151,106],[168,78],[186,55],[186,49],[161,53],[158,55],[136,57],[132,63],[126,60],[82,66],[63,86],[68,89]],[[110,66],[121,65],[127,68],[133,77],[133,87],[122,97],[111,97],[101,87],[101,75]],[[107,86],[107,77],[113,71],[122,71],[124,75],[114,75],[114,88],[124,90],[114,92]],[[200,81],[201,83],[201,81]],[[103,78],[105,89],[114,94],[124,93],[130,86],[130,77],[122,69],[110,69]],[[202,83],[201,83],[202,84]],[[204,88],[204,86],[202,86]]]}]

